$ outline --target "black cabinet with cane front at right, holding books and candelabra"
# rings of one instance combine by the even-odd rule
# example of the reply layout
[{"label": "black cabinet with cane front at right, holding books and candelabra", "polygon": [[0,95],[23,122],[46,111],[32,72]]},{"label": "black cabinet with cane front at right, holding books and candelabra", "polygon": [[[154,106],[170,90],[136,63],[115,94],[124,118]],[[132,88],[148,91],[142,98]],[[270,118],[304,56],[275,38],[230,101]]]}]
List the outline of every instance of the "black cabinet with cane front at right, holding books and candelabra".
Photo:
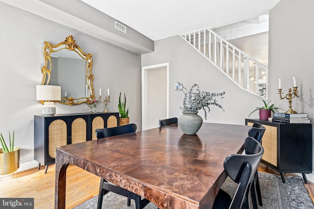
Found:
[{"label": "black cabinet with cane front at right, holding books and candelabra", "polygon": [[305,173],[312,173],[312,124],[245,119],[246,125],[255,122],[266,128],[261,162],[277,170],[284,183],[284,173],[302,173],[307,183]]}]

